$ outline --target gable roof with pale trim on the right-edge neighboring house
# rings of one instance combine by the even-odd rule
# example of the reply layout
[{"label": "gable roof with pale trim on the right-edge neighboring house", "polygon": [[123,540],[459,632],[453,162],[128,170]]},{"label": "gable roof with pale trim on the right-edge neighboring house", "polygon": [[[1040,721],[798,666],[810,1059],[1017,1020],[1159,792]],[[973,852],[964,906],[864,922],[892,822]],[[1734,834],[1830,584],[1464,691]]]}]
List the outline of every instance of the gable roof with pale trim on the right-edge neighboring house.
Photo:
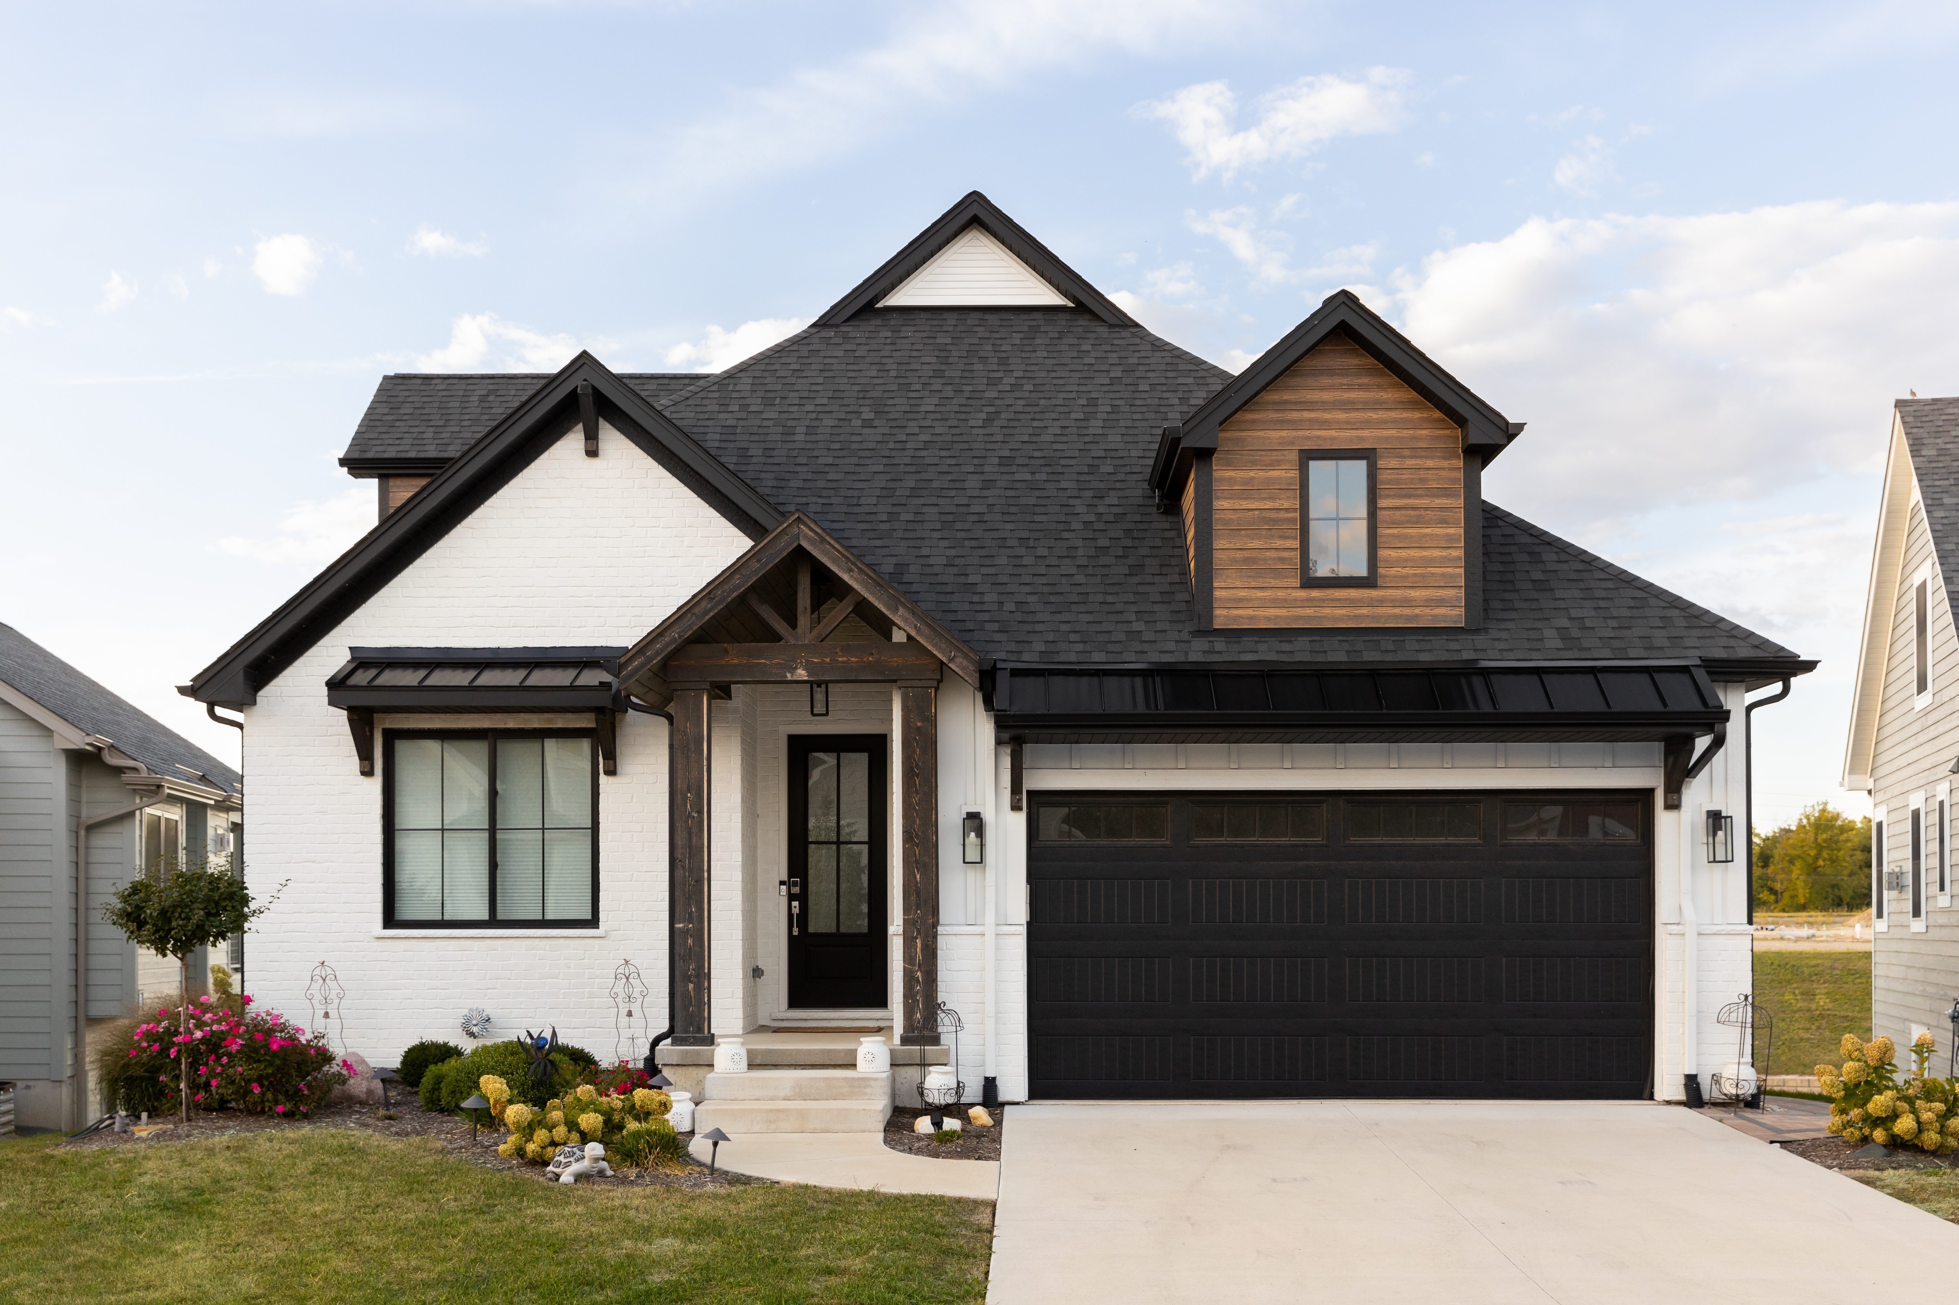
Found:
[{"label": "gable roof with pale trim on the right-edge neighboring house", "polygon": [[1914,497],[1924,505],[1926,532],[1932,536],[1932,556],[1937,562],[1935,579],[1947,585],[1947,577],[1959,567],[1959,399],[1892,403],[1885,491],[1879,499],[1877,544],[1871,548],[1863,638],[1857,646],[1857,679],[1843,745],[1843,787],[1855,792],[1871,790],[1877,718],[1885,706],[1885,675],[1890,663],[1892,603],[1904,571]]}]

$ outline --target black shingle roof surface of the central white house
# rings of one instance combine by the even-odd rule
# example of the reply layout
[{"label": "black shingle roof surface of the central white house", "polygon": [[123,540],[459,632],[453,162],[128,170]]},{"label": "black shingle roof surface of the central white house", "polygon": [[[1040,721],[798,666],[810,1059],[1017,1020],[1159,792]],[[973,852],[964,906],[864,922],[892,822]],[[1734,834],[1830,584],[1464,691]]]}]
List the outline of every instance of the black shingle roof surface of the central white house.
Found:
[{"label": "black shingle roof surface of the central white house", "polygon": [[[1481,630],[1193,632],[1150,460],[1230,374],[1085,311],[874,309],[625,380],[1005,663],[1794,655],[1487,503]],[[453,456],[531,383],[390,376],[349,456]]]}]

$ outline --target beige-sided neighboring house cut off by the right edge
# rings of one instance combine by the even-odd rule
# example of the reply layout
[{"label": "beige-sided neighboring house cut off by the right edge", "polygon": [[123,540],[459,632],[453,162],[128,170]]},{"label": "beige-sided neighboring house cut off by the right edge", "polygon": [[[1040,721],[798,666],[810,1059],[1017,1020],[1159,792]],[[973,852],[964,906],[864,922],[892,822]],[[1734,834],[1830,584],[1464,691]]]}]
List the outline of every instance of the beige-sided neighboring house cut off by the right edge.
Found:
[{"label": "beige-sided neighboring house cut off by the right edge", "polygon": [[1871,794],[1871,1023],[1904,1043],[1959,1033],[1953,777],[1959,640],[1959,399],[1898,399],[1865,597],[1843,787]]}]

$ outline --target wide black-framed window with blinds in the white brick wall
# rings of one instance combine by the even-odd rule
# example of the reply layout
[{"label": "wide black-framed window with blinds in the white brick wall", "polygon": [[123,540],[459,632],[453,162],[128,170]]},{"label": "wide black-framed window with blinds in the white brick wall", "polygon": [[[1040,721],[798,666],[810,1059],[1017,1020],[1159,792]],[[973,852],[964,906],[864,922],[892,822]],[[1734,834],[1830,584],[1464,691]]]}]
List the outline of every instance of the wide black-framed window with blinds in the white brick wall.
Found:
[{"label": "wide black-framed window with blinds in the white brick wall", "polygon": [[597,923],[590,732],[390,734],[390,925]]}]

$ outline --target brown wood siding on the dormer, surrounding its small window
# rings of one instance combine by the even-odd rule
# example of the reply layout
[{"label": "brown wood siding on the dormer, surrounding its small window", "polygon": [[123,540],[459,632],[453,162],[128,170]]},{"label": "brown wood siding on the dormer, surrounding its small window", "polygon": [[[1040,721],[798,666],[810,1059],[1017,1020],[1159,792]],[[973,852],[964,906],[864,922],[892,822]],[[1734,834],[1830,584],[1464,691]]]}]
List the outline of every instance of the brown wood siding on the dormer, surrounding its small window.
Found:
[{"label": "brown wood siding on the dormer, surrounding its small window", "polygon": [[[1465,475],[1461,444],[1456,423],[1344,335],[1328,335],[1218,427],[1211,624],[1463,626],[1463,509],[1479,477]],[[1299,479],[1311,450],[1375,454],[1371,585],[1301,585]],[[1201,477],[1191,481],[1201,495]],[[1205,530],[1191,524],[1185,538],[1197,548]],[[1203,565],[1193,558],[1193,573]]]}]

